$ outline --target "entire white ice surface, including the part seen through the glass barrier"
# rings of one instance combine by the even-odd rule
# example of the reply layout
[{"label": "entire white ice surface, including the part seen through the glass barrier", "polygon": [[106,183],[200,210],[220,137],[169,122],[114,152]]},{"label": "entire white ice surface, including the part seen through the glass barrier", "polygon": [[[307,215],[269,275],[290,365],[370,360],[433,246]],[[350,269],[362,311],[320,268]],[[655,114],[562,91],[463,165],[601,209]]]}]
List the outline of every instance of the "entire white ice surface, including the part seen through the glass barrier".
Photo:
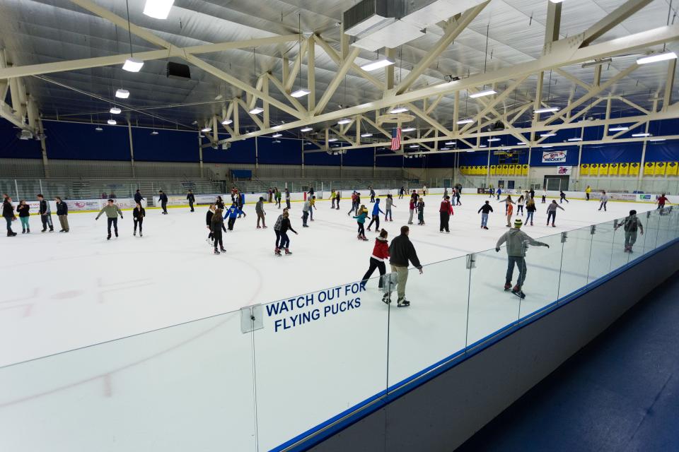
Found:
[{"label": "entire white ice surface, including the part seen through the glass barrier", "polygon": [[[293,203],[300,234],[291,234],[294,254],[283,257],[273,254],[279,210],[272,205],[266,230],[255,229],[254,208],[246,206],[250,215],[225,234],[228,253],[220,256],[204,242],[204,207],[147,210],[143,238],[132,237],[132,215],[124,212],[120,238],[110,241],[105,219],[95,222],[93,213],[69,215],[69,234],[41,234],[32,217],[30,235],[0,237],[11,256],[2,264],[9,281],[0,295],[2,364],[232,314],[0,369],[7,390],[0,389],[0,450],[254,450],[253,383],[256,438],[268,450],[608,273],[611,261],[622,265],[621,234],[612,246],[604,226],[596,240],[589,228],[571,232],[560,261],[559,233],[654,207],[609,203],[599,212],[595,201],[571,201],[552,228],[538,201],[536,225],[525,230],[556,235],[544,239],[550,249],[530,250],[528,297],[519,303],[501,290],[504,250],[477,254],[470,294],[466,259],[455,258],[492,249],[506,231],[504,206],[494,200],[490,230],[480,229],[486,198],[464,195],[450,234],[439,232],[441,197],[425,198],[427,224],[412,225],[410,237],[422,263],[448,261],[411,273],[410,309],[388,310],[373,280],[359,294],[361,309],[279,333],[265,318],[255,335],[240,332],[240,307],[360,280],[373,240],[356,240],[347,201],[340,210],[318,202],[308,228],[301,203]],[[407,199],[395,203],[395,221],[385,226],[390,238],[407,221]],[[591,254],[592,243],[599,252]],[[644,245],[639,239],[639,254],[652,249]]]}]

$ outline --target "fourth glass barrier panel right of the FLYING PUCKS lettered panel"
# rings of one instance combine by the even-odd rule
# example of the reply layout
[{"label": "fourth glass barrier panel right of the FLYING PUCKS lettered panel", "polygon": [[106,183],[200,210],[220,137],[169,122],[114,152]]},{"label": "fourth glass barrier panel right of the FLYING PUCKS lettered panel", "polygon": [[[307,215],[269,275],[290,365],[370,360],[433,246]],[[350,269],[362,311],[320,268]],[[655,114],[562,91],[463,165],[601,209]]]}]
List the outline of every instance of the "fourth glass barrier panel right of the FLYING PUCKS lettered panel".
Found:
[{"label": "fourth glass barrier panel right of the FLYING PUCKS lettered panel", "polygon": [[591,227],[564,232],[559,298],[587,285],[589,258],[592,252]]}]

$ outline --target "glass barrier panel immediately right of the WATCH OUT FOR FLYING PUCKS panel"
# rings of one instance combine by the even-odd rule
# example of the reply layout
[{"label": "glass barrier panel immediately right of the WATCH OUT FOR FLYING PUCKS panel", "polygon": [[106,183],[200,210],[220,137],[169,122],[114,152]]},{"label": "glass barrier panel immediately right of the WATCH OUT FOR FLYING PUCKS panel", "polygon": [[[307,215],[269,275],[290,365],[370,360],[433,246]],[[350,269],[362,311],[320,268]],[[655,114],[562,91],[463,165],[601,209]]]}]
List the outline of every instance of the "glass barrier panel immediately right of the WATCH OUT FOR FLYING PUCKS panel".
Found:
[{"label": "glass barrier panel immediately right of the WATCH OUT FOR FLYING PUCKS panel", "polygon": [[410,307],[389,313],[389,386],[465,348],[469,270],[461,256],[409,271]]}]

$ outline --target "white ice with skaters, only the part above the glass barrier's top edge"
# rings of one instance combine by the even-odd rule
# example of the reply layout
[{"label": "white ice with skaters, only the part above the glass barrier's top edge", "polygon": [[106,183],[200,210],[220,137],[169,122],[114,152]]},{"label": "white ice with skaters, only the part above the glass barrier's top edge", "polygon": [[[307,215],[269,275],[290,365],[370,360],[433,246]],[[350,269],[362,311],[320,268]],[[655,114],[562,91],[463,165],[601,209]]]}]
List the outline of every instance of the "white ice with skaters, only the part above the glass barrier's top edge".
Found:
[{"label": "white ice with skaters, only the part above the glass barrier's top edge", "polygon": [[[485,199],[487,195],[463,195],[463,206],[455,207],[451,218],[451,233],[441,234],[441,196],[426,196],[426,225],[412,225],[410,234],[423,264],[494,247],[506,230],[504,204],[492,198],[490,229],[482,230],[477,210]],[[407,222],[407,201],[395,199],[394,221],[381,222],[389,239]],[[372,208],[367,198],[361,203]],[[329,201],[318,201],[317,206],[315,221],[303,228],[302,203],[292,204],[291,221],[299,234],[290,234],[294,254],[282,257],[273,254],[273,225],[280,213],[274,204],[265,205],[269,228],[259,230],[254,206],[245,206],[248,216],[224,235],[228,251],[219,256],[205,242],[206,206],[195,213],[170,208],[169,215],[148,209],[143,238],[132,236],[132,213],[125,211],[118,222],[120,237],[110,241],[105,239],[105,218],[95,221],[95,213],[69,215],[68,234],[41,234],[40,220],[32,216],[31,234],[18,230],[13,239],[1,238],[11,258],[2,264],[9,282],[0,295],[0,343],[11,346],[1,347],[0,364],[359,280],[367,269],[375,232],[366,232],[368,242],[356,239],[356,221],[347,215],[350,201],[343,199],[340,210],[332,210]],[[558,210],[557,227],[546,227],[546,205],[538,200],[535,226],[524,230],[542,237],[622,218],[631,208],[639,212],[654,208],[610,202],[608,212],[603,212],[597,210],[598,201],[577,200],[562,206],[566,211]],[[56,215],[52,220],[58,225]],[[14,227],[15,231],[21,227],[18,221]],[[504,273],[504,261],[498,265]],[[498,275],[498,280],[502,278]]]}]

